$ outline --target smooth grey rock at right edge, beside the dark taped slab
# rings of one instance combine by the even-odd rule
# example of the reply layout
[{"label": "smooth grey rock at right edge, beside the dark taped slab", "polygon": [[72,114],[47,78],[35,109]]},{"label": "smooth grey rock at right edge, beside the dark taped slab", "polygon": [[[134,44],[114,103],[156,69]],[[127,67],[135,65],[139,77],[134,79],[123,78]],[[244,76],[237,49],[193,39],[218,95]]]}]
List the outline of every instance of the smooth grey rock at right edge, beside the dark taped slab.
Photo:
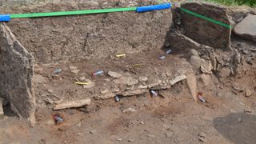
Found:
[{"label": "smooth grey rock at right edge, beside the dark taped slab", "polygon": [[234,26],[234,33],[256,42],[256,15],[249,14],[242,22]]}]

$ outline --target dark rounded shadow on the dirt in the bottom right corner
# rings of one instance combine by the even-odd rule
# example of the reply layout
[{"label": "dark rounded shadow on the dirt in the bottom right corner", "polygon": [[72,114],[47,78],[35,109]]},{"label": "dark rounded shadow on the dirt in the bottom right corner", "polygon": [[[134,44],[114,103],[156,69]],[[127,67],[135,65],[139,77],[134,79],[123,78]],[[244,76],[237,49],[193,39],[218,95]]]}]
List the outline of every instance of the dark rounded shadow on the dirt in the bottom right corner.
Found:
[{"label": "dark rounded shadow on the dirt in the bottom right corner", "polygon": [[234,144],[256,142],[256,115],[235,113],[214,118],[214,127]]}]

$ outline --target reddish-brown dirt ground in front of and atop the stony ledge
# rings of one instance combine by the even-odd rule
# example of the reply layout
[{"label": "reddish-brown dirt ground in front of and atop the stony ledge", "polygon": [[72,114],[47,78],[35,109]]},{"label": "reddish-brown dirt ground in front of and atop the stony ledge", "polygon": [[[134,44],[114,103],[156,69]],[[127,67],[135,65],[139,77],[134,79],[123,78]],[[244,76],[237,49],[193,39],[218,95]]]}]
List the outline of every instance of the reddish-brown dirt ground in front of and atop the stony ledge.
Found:
[{"label": "reddish-brown dirt ground in front of and atop the stony ledge", "polygon": [[[158,66],[164,67],[163,70],[182,69],[183,66],[177,61],[181,58],[175,51],[163,61],[158,60],[161,54],[164,54],[162,50],[154,50],[145,54],[128,54],[122,59],[110,56],[72,65],[59,62],[58,65],[36,66],[36,74],[42,75],[43,81],[46,81],[37,84],[40,108],[36,112],[37,124],[31,127],[26,120],[19,120],[5,110],[9,116],[0,120],[0,143],[240,144],[256,141],[256,69],[255,65],[246,62],[239,67],[236,77],[220,81],[212,74],[210,85],[199,89],[206,103],[194,102],[186,81],[178,82],[168,90],[159,90],[162,97],[146,93],[121,98],[120,102],[115,102],[114,98],[96,100],[94,90],[88,93],[90,90],[74,85],[74,81],[81,76],[91,78],[94,70],[127,71],[127,66],[136,63],[146,66],[132,71],[128,69],[134,76],[142,72],[150,74],[150,70]],[[80,71],[70,73],[69,66],[77,66]],[[57,67],[62,68],[62,73],[53,76],[52,72]],[[106,78],[104,74],[91,79],[100,85],[101,80]],[[241,89],[234,89],[234,85]],[[57,95],[56,101],[59,98],[93,98],[94,104],[53,111],[49,102],[44,101],[46,98],[42,98],[47,90],[49,93],[49,89],[54,90],[50,95]],[[250,97],[245,97],[246,89],[252,90]],[[54,97],[50,98],[54,101]],[[57,113],[64,118],[60,125],[55,125],[53,121],[53,114]]]}]

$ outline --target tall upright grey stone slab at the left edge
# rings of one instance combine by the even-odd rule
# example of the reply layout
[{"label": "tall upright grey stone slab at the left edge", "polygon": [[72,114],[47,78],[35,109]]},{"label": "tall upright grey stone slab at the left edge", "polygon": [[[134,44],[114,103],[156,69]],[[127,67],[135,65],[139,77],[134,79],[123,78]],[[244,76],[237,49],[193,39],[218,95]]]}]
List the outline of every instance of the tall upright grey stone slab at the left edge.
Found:
[{"label": "tall upright grey stone slab at the left edge", "polygon": [[35,98],[32,78],[33,56],[16,40],[5,25],[0,25],[0,95],[11,109],[34,124]]}]

